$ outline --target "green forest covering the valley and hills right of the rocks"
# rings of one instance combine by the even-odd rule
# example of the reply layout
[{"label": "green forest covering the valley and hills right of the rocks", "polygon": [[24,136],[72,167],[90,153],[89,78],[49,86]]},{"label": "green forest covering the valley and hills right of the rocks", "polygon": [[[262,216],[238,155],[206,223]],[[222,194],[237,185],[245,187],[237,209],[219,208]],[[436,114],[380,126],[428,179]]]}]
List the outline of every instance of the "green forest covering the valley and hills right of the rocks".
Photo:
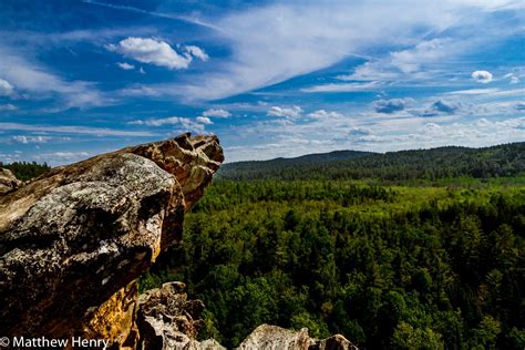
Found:
[{"label": "green forest covering the valley and hills right of the rocks", "polygon": [[523,349],[524,147],[226,164],[141,287],[186,282],[200,337],[228,348],[266,322],[361,349]]}]

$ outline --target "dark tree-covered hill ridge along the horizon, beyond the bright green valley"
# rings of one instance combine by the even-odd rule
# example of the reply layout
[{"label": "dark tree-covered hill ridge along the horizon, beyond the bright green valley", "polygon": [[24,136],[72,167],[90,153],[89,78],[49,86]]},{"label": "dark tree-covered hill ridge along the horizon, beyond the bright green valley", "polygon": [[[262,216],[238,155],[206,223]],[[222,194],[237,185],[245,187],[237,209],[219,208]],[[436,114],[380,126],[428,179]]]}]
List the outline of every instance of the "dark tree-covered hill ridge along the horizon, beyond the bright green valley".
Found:
[{"label": "dark tree-covered hill ridge along the horizon, beyond the bright green valley", "polygon": [[439,147],[384,154],[336,151],[296,158],[276,158],[224,164],[225,179],[338,179],[383,181],[476,178],[525,174],[525,142],[483,148]]}]

